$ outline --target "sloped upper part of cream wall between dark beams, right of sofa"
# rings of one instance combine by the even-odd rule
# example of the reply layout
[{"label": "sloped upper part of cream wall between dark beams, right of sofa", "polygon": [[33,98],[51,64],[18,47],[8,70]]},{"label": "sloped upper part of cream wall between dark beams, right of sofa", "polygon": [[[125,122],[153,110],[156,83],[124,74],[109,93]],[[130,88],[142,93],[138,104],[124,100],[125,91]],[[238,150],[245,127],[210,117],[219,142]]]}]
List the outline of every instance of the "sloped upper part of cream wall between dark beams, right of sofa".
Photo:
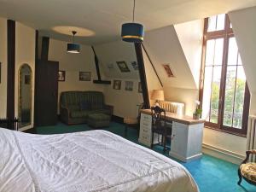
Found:
[{"label": "sloped upper part of cream wall between dark beams, right of sofa", "polygon": [[[139,79],[138,71],[135,70],[131,62],[137,62],[134,44],[123,41],[114,41],[107,44],[95,46],[100,66],[107,79]],[[122,73],[116,61],[125,61],[130,72]]]}]

